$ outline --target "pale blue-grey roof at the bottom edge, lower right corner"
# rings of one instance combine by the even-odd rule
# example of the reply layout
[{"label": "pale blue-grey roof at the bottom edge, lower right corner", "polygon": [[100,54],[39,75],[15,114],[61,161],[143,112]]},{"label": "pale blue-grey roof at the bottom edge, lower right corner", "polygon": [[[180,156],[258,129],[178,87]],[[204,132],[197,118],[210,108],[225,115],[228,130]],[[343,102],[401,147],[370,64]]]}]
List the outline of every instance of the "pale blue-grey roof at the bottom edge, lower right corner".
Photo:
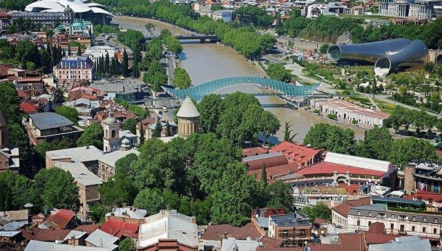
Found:
[{"label": "pale blue-grey roof at the bottom edge, lower right corner", "polygon": [[370,251],[430,251],[431,245],[429,239],[419,239],[419,236],[412,239],[396,238],[395,241],[385,244],[372,244],[369,246]]}]

